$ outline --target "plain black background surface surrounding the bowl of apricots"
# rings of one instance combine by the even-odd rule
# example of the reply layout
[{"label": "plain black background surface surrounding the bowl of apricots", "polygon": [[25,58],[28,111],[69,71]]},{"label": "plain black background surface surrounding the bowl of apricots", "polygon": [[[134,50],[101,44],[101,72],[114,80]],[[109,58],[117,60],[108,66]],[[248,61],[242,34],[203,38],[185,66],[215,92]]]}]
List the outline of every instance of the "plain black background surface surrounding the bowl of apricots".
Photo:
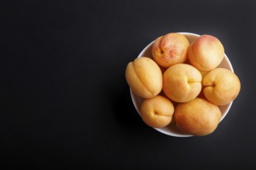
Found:
[{"label": "plain black background surface surrounding the bowl of apricots", "polygon": [[[256,168],[254,1],[2,1],[2,169]],[[241,90],[213,134],[175,138],[133,107],[126,64],[158,36],[216,36]]]}]

